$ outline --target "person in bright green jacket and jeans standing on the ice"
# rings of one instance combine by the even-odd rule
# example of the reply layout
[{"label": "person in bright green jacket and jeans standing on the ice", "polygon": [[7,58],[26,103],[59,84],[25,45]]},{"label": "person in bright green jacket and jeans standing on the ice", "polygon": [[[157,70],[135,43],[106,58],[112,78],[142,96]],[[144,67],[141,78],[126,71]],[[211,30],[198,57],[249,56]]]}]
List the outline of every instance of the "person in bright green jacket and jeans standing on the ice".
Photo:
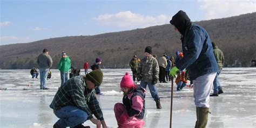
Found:
[{"label": "person in bright green jacket and jeans standing on the ice", "polygon": [[62,80],[62,86],[69,79],[69,69],[71,66],[71,60],[66,53],[62,52],[62,58],[59,60],[59,71],[60,71],[60,79]]}]

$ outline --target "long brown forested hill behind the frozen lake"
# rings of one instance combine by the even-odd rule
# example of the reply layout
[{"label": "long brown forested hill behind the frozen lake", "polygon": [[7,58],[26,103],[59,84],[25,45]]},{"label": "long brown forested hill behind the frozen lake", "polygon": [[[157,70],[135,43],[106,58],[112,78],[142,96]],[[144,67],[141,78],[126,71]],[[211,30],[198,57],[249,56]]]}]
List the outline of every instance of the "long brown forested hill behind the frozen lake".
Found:
[{"label": "long brown forested hill behind the frozen lake", "polygon": [[[256,12],[240,16],[200,21],[212,41],[223,50],[225,66],[250,66],[256,53]],[[94,36],[69,36],[41,41],[0,46],[0,69],[31,69],[37,67],[36,58],[48,49],[57,69],[62,51],[71,58],[71,65],[82,68],[86,60],[92,64],[102,58],[102,68],[129,68],[133,55],[144,56],[146,46],[152,46],[158,57],[166,53],[174,56],[181,50],[180,34],[171,24],[144,29],[111,32]]]}]

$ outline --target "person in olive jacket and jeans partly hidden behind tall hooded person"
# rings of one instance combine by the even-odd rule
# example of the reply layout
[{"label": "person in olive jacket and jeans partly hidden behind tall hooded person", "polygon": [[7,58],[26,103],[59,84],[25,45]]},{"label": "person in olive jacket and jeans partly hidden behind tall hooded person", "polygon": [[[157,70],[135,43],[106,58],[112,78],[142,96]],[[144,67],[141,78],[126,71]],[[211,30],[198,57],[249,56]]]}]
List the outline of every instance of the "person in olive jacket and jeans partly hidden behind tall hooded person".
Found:
[{"label": "person in olive jacket and jeans partly hidden behind tall hooded person", "polygon": [[210,95],[210,97],[218,97],[219,94],[223,93],[222,87],[220,86],[220,82],[219,82],[219,75],[224,65],[224,55],[223,55],[223,52],[218,48],[218,46],[215,45],[214,42],[212,42],[212,46],[213,46],[213,53],[218,64],[218,71],[213,81],[213,94]]}]

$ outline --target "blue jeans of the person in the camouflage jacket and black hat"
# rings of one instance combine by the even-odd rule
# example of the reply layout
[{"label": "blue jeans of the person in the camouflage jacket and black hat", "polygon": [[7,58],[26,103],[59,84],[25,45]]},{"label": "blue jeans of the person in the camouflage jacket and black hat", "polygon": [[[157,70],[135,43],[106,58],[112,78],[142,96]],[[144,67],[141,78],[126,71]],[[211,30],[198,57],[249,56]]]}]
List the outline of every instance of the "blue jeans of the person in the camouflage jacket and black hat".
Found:
[{"label": "blue jeans of the person in the camouflage jacket and black hat", "polygon": [[140,82],[140,86],[142,86],[144,89],[147,88],[147,85],[149,85],[149,90],[150,90],[152,98],[154,100],[158,100],[159,96],[158,96],[158,93],[157,93],[156,86],[152,82],[144,82],[144,81]]}]

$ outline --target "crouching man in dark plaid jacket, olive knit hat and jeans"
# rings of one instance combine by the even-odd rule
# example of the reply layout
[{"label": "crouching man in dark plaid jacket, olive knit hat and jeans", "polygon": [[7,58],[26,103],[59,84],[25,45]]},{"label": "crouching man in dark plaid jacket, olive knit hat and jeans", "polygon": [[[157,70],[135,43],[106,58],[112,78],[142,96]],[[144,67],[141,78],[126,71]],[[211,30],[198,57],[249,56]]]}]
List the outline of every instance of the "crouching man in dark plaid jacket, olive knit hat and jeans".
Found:
[{"label": "crouching man in dark plaid jacket, olive knit hat and jeans", "polygon": [[107,127],[95,95],[95,87],[100,86],[102,80],[102,71],[96,70],[86,76],[72,77],[60,86],[50,104],[59,118],[53,127],[84,127],[86,120],[97,127]]}]

